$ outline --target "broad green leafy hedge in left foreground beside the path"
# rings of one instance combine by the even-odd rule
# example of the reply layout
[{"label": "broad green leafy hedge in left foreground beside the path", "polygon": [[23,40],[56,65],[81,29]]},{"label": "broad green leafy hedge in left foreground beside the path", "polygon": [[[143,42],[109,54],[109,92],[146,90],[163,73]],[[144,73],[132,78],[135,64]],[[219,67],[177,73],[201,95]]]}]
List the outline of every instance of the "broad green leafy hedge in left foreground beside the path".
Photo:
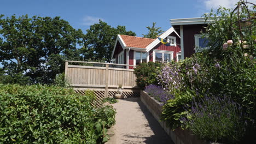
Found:
[{"label": "broad green leafy hedge in left foreground beside the path", "polygon": [[[0,143],[102,143],[115,111],[55,86],[0,86]],[[100,125],[100,126],[99,126]]]}]

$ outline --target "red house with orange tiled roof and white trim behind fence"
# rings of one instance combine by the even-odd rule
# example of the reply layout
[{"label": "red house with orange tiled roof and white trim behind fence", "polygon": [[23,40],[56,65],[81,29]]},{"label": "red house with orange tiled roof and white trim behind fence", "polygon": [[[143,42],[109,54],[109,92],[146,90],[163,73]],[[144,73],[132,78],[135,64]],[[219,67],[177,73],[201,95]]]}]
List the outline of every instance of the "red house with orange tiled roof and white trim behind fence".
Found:
[{"label": "red house with orange tiled roof and white trim behind fence", "polygon": [[[118,35],[112,52],[116,63],[138,65],[142,62],[170,62],[181,59],[181,37],[173,27],[160,36],[171,46],[166,46],[156,39]],[[133,67],[129,67],[132,69]]]}]

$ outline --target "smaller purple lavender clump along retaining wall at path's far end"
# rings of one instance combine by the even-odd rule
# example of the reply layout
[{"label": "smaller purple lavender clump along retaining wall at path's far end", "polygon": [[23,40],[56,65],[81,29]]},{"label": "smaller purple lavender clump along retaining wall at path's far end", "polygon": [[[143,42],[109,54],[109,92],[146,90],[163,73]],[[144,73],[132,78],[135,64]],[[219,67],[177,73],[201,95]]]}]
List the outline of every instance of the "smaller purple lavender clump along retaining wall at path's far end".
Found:
[{"label": "smaller purple lavender clump along retaining wall at path's far end", "polygon": [[166,101],[173,98],[173,95],[166,92],[161,86],[149,85],[146,86],[145,91],[154,97],[156,100],[166,104]]}]

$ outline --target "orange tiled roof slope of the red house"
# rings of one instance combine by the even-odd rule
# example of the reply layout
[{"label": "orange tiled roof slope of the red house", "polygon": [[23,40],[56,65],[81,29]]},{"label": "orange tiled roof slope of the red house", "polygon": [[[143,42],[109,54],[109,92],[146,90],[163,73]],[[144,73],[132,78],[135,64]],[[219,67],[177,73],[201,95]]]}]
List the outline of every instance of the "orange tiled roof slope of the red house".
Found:
[{"label": "orange tiled roof slope of the red house", "polygon": [[146,48],[150,43],[152,43],[155,39],[149,38],[141,38],[141,37],[133,37],[130,35],[120,35],[124,40],[124,43],[127,47],[138,47],[138,48]]}]

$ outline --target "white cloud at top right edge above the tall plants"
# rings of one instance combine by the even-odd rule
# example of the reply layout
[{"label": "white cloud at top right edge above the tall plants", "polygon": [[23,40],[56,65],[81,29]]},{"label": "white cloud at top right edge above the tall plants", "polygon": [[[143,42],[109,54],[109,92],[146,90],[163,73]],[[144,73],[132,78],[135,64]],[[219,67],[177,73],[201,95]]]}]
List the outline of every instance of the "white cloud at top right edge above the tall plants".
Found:
[{"label": "white cloud at top right edge above the tall plants", "polygon": [[[219,5],[225,8],[235,8],[235,4],[238,0],[206,0],[203,3],[205,4],[206,9],[216,9],[219,8]],[[256,3],[256,0],[250,0],[247,2]]]}]

